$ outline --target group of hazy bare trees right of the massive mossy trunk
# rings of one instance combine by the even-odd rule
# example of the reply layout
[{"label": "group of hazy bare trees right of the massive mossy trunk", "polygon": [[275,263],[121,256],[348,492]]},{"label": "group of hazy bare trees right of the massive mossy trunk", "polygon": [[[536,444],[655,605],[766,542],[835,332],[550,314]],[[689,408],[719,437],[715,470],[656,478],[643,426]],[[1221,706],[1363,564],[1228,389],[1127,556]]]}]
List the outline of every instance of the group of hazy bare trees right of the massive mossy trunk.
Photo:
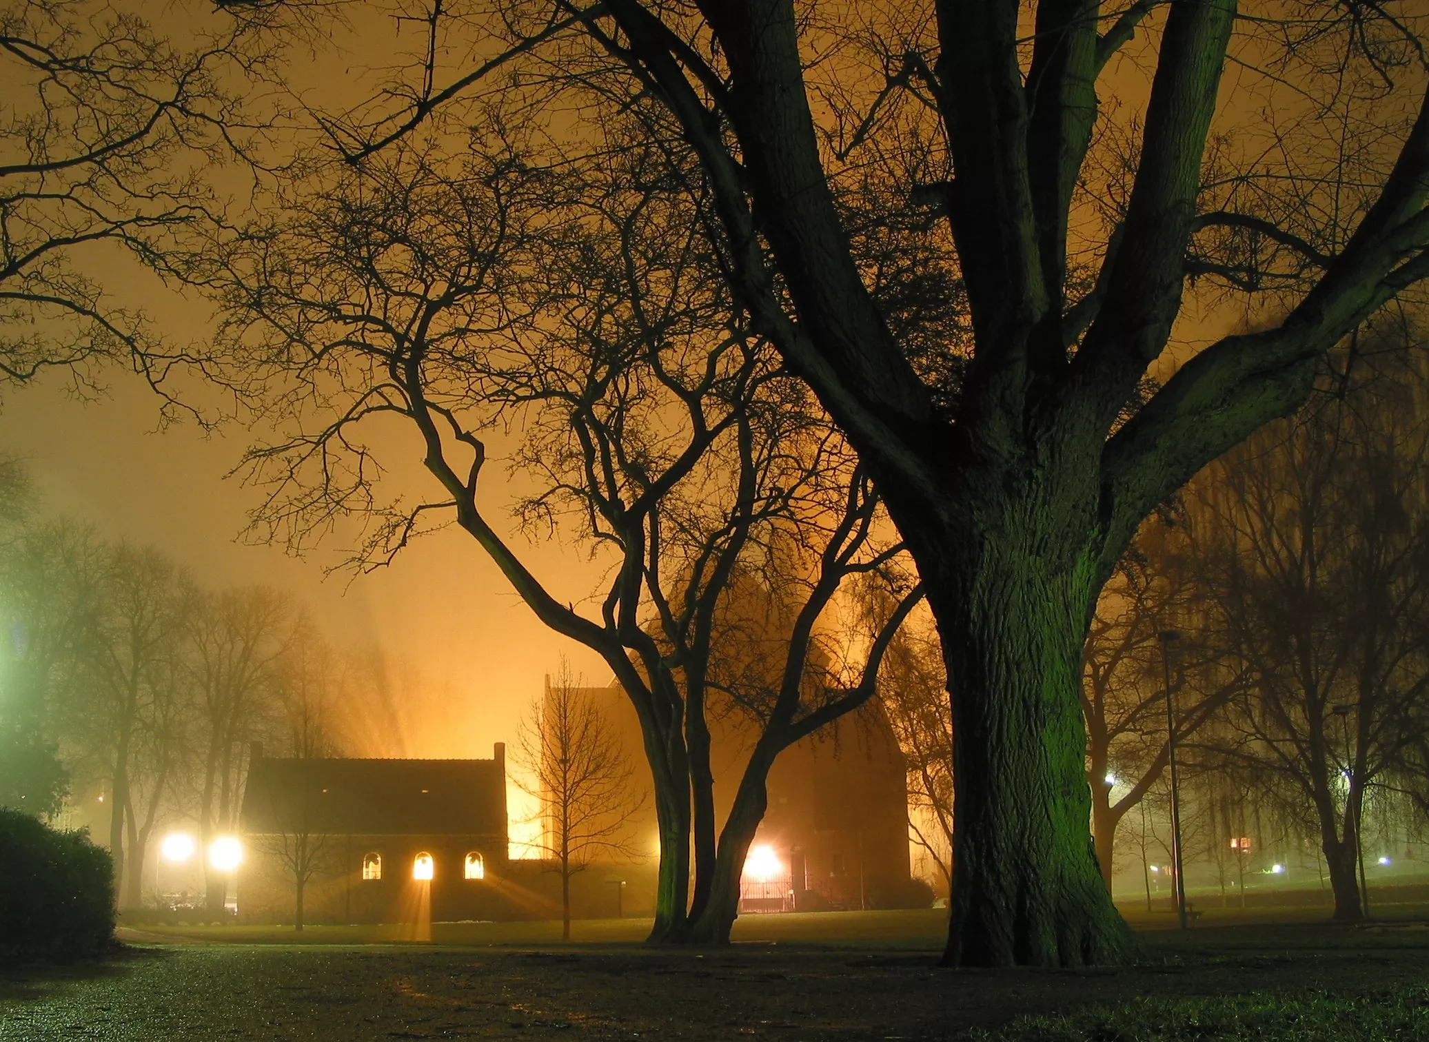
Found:
[{"label": "group of hazy bare trees right of the massive mossy trunk", "polygon": [[[1353,337],[1295,419],[1143,526],[1109,585],[1083,682],[1107,878],[1113,833],[1136,830],[1127,812],[1163,783],[1169,676],[1192,802],[1215,818],[1226,793],[1256,793],[1313,838],[1336,918],[1365,913],[1366,800],[1412,816],[1429,783],[1429,360],[1416,340],[1388,317]],[[1240,835],[1225,820],[1213,832]]]}]

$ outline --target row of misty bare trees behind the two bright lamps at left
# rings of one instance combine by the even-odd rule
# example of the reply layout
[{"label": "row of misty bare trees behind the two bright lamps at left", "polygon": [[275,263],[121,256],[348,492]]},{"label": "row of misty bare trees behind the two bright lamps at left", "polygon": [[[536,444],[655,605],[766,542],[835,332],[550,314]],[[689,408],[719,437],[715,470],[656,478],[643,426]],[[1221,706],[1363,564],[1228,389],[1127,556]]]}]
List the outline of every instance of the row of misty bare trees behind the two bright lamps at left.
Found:
[{"label": "row of misty bare trees behind the two bright lamps at left", "polygon": [[[123,908],[166,820],[197,820],[204,848],[236,828],[252,742],[334,748],[334,663],[283,593],[207,590],[159,550],[40,522],[6,533],[0,600],[0,803],[44,816],[71,788],[93,798]],[[221,876],[206,899],[221,909]]]}]

